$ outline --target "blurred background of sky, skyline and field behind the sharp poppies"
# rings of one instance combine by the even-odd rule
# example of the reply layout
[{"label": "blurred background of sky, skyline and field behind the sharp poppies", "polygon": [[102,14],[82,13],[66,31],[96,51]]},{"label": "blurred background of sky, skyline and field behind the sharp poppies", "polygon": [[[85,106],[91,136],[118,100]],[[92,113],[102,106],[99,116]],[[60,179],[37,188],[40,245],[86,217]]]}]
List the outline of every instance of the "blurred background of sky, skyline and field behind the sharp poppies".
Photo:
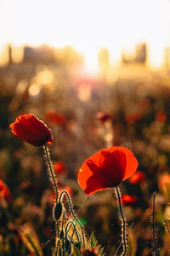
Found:
[{"label": "blurred background of sky, skyline and field behind the sharp poppies", "polygon": [[60,189],[106,255],[120,245],[114,191],[85,198],[77,171],[104,147],[132,150],[139,173],[121,185],[131,255],[151,253],[154,191],[157,246],[170,255],[169,10],[167,0],[0,0],[0,255],[28,255],[25,231],[44,255],[54,245],[41,150],[8,128],[25,113],[52,129]]}]

